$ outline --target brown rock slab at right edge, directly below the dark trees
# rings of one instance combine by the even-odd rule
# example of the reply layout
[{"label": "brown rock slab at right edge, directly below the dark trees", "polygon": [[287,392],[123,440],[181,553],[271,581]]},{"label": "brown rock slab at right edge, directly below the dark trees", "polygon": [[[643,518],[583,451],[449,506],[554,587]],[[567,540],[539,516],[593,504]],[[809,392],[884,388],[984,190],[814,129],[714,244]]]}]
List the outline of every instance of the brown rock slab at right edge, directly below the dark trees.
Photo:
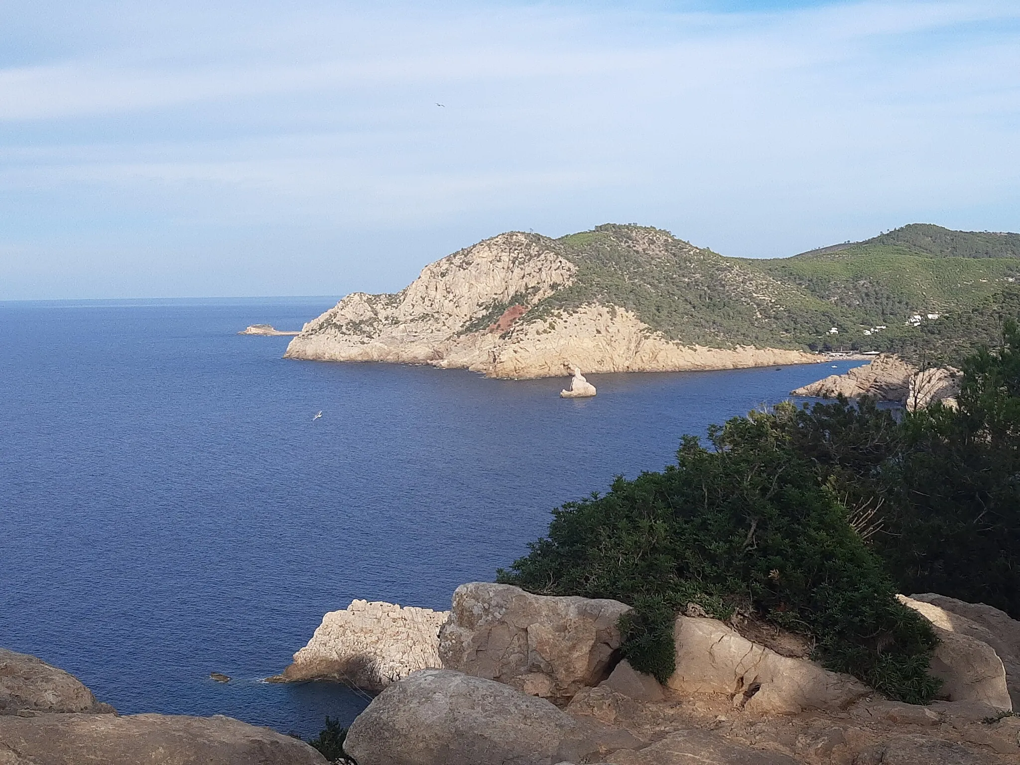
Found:
[{"label": "brown rock slab at right edge, directly below the dark trees", "polygon": [[[983,603],[966,603],[934,593],[910,597],[918,604],[916,609],[936,626],[969,634],[996,650],[1006,669],[1006,686],[1013,709],[1020,710],[1020,621]],[[920,604],[928,604],[930,608]]]}]

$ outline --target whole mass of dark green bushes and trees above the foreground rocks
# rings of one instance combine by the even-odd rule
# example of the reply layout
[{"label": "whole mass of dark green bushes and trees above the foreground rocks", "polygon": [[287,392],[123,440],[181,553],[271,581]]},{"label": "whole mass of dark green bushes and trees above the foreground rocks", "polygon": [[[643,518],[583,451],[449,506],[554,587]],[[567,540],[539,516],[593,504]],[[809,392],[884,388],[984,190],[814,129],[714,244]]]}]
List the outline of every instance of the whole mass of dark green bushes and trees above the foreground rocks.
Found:
[{"label": "whole mass of dark green bushes and trees above the foreground rocks", "polygon": [[828,668],[929,701],[934,636],[897,591],[1020,616],[1020,330],[963,365],[959,410],[863,400],[752,412],[684,437],[677,463],[554,511],[500,580],[634,606],[636,668],[673,671],[687,604],[801,633]]}]

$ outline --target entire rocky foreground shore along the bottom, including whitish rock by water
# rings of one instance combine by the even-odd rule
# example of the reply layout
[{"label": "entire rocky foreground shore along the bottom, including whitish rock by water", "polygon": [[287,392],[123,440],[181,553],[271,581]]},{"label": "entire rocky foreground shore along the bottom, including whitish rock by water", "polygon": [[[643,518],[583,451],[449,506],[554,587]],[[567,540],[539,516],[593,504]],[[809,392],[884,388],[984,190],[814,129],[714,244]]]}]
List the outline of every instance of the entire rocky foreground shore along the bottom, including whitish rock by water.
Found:
[{"label": "entire rocky foreground shore along the bottom, including whitish rock by water", "polygon": [[[350,681],[330,662],[379,659],[362,679],[382,691],[347,733],[358,765],[1016,763],[1020,622],[934,594],[901,601],[940,639],[931,671],[944,698],[926,707],[888,701],[796,641],[693,605],[676,617],[676,670],[661,684],[620,657],[626,604],[488,582],[458,588],[449,612],[355,601],[326,615],[295,665]],[[218,715],[117,715],[66,672],[0,650],[0,763],[83,762],[325,760]]]}]

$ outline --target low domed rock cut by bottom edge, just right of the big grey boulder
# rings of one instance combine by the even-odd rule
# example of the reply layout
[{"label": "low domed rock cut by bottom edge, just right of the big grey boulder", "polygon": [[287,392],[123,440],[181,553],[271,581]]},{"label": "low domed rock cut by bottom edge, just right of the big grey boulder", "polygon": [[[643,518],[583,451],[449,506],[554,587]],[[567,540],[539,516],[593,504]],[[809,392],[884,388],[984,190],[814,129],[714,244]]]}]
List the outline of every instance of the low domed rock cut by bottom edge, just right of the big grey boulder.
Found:
[{"label": "low domed rock cut by bottom edge, just right of the big grey boulder", "polygon": [[615,765],[797,765],[777,752],[752,749],[708,730],[680,730],[640,751],[606,758]]}]

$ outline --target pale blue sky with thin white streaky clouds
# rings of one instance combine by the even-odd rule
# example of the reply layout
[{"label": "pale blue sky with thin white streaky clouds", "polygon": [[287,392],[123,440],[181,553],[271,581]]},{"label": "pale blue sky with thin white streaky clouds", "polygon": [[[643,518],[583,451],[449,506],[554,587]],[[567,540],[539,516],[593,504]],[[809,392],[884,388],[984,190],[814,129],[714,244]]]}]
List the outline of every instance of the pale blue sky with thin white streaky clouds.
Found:
[{"label": "pale blue sky with thin white streaky clouds", "polygon": [[395,291],[605,222],[1020,231],[1020,3],[0,3],[0,300]]}]

